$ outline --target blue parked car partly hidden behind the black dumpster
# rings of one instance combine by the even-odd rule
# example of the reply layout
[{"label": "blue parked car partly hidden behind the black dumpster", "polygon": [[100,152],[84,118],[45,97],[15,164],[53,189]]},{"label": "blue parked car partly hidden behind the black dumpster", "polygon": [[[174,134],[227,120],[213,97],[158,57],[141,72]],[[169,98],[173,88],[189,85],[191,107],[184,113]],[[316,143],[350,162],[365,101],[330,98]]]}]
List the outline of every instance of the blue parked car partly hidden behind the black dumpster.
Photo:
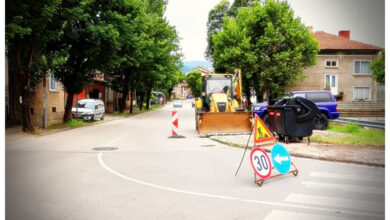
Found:
[{"label": "blue parked car partly hidden behind the black dumpster", "polygon": [[[312,91],[292,91],[286,93],[283,98],[303,97],[312,100],[321,112],[320,117],[313,119],[314,129],[323,130],[328,126],[329,119],[336,119],[340,113],[337,112],[337,102],[333,94],[328,90]],[[268,125],[267,114],[268,102],[256,103],[252,106],[252,111],[262,118]]]}]

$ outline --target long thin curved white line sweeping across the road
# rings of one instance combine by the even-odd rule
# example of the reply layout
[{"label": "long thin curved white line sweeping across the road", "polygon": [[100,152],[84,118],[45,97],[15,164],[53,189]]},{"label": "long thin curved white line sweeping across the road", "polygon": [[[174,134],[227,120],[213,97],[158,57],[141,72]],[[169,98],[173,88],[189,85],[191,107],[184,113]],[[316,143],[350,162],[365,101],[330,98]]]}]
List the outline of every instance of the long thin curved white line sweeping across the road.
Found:
[{"label": "long thin curved white line sweeping across the road", "polygon": [[299,205],[299,204],[289,204],[289,203],[279,203],[279,202],[269,202],[264,200],[253,200],[253,199],[242,199],[239,197],[232,197],[232,196],[224,196],[224,195],[216,195],[216,194],[208,194],[208,193],[201,193],[201,192],[193,192],[188,190],[182,190],[182,189],[175,189],[167,186],[161,186],[153,183],[144,182],[142,180],[138,180],[135,178],[131,178],[128,176],[125,176],[123,174],[120,174],[119,172],[111,169],[109,166],[107,166],[103,161],[103,152],[99,152],[98,155],[98,161],[100,165],[106,169],[108,172],[121,177],[123,179],[126,179],[128,181],[138,183],[144,186],[165,190],[169,192],[175,192],[175,193],[183,193],[193,196],[202,196],[207,198],[213,198],[213,199],[222,199],[222,200],[233,200],[238,202],[248,202],[248,203],[254,203],[254,204],[261,204],[261,205],[269,205],[269,206],[279,206],[279,207],[288,207],[288,208],[298,208],[298,209],[306,209],[311,211],[322,211],[322,212],[331,212],[331,213],[342,213],[342,214],[352,214],[352,215],[360,215],[360,216],[369,216],[369,217],[384,217],[384,215],[380,214],[373,214],[373,213],[367,213],[367,212],[359,212],[359,211],[348,211],[348,210],[341,210],[341,209],[332,209],[332,208],[322,208],[322,207],[314,207],[314,206],[308,206],[308,205]]}]

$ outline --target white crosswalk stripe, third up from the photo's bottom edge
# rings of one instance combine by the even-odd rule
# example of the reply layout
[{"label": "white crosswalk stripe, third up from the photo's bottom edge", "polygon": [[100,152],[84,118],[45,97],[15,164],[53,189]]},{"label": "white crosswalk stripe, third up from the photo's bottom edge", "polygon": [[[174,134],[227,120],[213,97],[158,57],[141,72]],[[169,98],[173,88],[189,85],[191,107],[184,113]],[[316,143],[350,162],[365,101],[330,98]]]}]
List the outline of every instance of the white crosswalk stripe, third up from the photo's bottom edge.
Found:
[{"label": "white crosswalk stripe, third up from the photo's bottom edge", "polygon": [[302,182],[306,187],[316,188],[316,189],[333,189],[333,190],[343,190],[347,192],[357,192],[357,193],[374,193],[374,194],[384,194],[385,190],[383,187],[373,187],[373,186],[359,186],[352,184],[339,184],[339,183],[320,183],[320,182]]}]

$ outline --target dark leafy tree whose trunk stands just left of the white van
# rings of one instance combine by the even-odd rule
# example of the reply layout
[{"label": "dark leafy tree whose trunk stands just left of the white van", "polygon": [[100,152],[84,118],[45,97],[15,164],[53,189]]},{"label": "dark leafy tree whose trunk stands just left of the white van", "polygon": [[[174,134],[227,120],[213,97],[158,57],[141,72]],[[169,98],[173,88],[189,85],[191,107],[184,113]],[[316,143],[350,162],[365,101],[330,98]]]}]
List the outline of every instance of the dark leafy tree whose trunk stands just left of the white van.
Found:
[{"label": "dark leafy tree whose trunk stands just left of the white van", "polygon": [[[130,4],[129,4],[130,3]],[[67,92],[64,122],[71,119],[73,96],[92,81],[97,70],[111,61],[118,47],[116,24],[123,22],[121,12],[132,16],[133,1],[63,0],[59,19],[65,19],[64,34],[53,47],[68,52],[68,59],[54,70]]]}]

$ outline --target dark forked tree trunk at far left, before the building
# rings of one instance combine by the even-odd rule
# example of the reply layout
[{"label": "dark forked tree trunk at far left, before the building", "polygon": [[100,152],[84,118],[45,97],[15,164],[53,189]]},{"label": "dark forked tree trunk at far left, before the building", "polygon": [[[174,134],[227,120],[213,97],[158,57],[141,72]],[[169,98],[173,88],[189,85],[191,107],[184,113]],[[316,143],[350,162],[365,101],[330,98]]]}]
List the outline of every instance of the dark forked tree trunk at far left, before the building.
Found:
[{"label": "dark forked tree trunk at far left, before the building", "polygon": [[[33,49],[29,51],[29,60],[27,61],[27,67],[29,68],[32,64],[32,55]],[[22,64],[22,54],[20,48],[16,49],[16,65],[18,71],[18,80],[21,99],[21,109],[22,109],[22,130],[24,132],[33,132],[34,127],[32,125],[32,118],[30,112],[30,72],[24,71]]]}]

